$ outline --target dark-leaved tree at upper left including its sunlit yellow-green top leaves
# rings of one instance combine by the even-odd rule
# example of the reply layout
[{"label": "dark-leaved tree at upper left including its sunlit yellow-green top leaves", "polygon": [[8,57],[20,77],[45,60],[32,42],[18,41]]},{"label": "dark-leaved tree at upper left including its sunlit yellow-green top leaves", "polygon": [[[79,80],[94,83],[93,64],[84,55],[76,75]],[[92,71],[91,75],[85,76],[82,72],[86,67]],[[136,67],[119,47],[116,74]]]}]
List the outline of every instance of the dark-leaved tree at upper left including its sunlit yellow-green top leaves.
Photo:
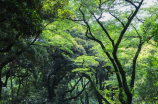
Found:
[{"label": "dark-leaved tree at upper left including its sunlit yellow-green top leaves", "polygon": [[[51,21],[69,18],[70,11],[64,8],[67,4],[67,0],[0,1],[0,98],[4,76],[1,75],[5,66],[14,63],[22,53],[25,52],[26,55],[29,50],[37,49],[32,48],[32,45],[38,40],[50,18]],[[68,15],[63,16],[65,13]],[[47,24],[43,21],[47,21]]]}]

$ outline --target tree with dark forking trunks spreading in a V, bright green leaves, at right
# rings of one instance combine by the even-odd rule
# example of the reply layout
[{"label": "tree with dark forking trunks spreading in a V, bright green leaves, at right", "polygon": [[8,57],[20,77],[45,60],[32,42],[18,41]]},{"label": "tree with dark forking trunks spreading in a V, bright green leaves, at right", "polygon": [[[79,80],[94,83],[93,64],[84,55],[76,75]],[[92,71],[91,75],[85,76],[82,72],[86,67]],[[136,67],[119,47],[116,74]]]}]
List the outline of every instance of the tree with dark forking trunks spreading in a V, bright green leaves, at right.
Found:
[{"label": "tree with dark forking trunks spreading in a V, bright green leaves, at right", "polygon": [[[119,88],[119,100],[122,104],[131,104],[134,90],[134,82],[135,82],[135,74],[136,74],[136,62],[138,59],[138,55],[140,54],[142,45],[145,42],[148,42],[152,37],[154,37],[155,33],[152,34],[143,34],[142,31],[138,30],[136,26],[134,26],[134,21],[137,19],[138,22],[141,22],[137,15],[139,14],[139,9],[142,6],[144,0],[140,1],[130,1],[130,0],[95,0],[95,1],[78,1],[76,6],[78,6],[78,14],[77,20],[75,21],[83,21],[85,26],[87,27],[86,36],[87,38],[98,42],[106,54],[107,58],[110,60],[114,72],[118,81]],[[73,2],[75,4],[75,1]],[[125,11],[117,10],[118,7],[123,8],[126,6],[128,8]],[[103,17],[103,13],[109,13],[113,19],[109,21],[101,21]],[[118,28],[119,31],[111,32],[108,31],[111,26],[109,23],[114,23],[115,28]],[[148,23],[148,21],[147,21]],[[93,26],[99,27],[100,29],[94,29]],[[143,27],[145,26],[145,23]],[[112,29],[112,28],[110,28]],[[135,31],[134,34],[129,34],[133,29]],[[144,29],[147,31],[147,29]],[[100,32],[102,31],[102,32]],[[128,32],[127,32],[128,31]],[[98,34],[95,34],[97,33]],[[122,44],[126,44],[126,38],[137,38],[136,41],[136,50],[132,54],[132,59],[129,61],[131,64],[130,70],[130,83],[127,80],[126,70],[123,65],[123,60],[119,57],[119,51],[121,50]],[[106,44],[105,42],[108,42]],[[106,44],[106,45],[105,45]],[[111,50],[108,50],[107,47],[111,47]],[[131,47],[129,45],[129,47]],[[124,49],[125,51],[128,49]],[[107,102],[108,103],[108,102]]]}]

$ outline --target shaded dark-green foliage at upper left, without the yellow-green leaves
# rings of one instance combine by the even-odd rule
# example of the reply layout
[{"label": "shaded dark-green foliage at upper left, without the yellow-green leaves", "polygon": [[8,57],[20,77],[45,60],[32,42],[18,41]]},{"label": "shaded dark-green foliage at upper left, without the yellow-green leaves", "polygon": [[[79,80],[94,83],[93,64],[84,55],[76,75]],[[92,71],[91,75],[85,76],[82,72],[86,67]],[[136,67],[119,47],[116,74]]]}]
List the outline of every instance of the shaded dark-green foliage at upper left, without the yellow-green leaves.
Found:
[{"label": "shaded dark-green foliage at upper left, without the yellow-green leaves", "polygon": [[[0,13],[0,78],[2,78],[4,66],[14,61],[26,47],[32,45],[41,33],[41,18],[37,13],[37,7],[41,6],[41,3],[38,0],[31,2],[5,0],[0,4],[2,11]],[[2,86],[1,80],[0,89]]]}]

